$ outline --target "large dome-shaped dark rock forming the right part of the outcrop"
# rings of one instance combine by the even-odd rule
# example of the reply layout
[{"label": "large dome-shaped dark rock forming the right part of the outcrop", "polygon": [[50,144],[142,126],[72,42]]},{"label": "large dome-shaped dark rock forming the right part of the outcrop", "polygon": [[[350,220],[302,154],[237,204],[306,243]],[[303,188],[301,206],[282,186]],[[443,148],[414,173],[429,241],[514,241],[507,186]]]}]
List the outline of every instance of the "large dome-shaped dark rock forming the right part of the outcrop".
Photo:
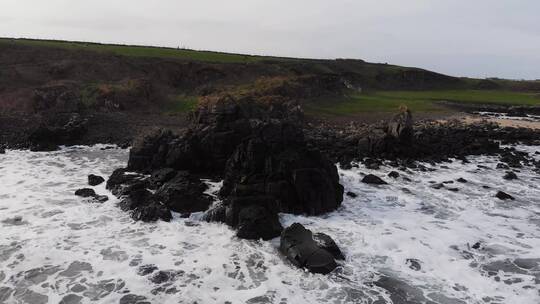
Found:
[{"label": "large dome-shaped dark rock forming the right part of the outcrop", "polygon": [[281,212],[318,215],[343,201],[337,168],[308,149],[294,124],[271,122],[238,146],[227,162],[222,196],[269,195]]}]

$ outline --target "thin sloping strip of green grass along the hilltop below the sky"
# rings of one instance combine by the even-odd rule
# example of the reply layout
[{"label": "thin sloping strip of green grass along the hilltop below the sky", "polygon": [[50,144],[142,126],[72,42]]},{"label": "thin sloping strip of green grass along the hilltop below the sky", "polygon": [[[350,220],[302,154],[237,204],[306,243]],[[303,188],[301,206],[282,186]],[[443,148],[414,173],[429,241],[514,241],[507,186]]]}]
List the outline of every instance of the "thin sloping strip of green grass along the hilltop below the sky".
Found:
[{"label": "thin sloping strip of green grass along the hilltop below the sky", "polygon": [[[172,58],[181,60],[194,60],[204,62],[219,63],[248,63],[261,60],[277,59],[277,57],[252,56],[241,54],[229,54],[211,51],[196,51],[189,49],[175,49],[150,46],[130,46],[115,44],[99,44],[87,42],[71,42],[56,40],[34,40],[34,39],[9,39],[0,38],[0,44],[16,43],[34,47],[51,47],[69,50],[87,50],[95,52],[112,53],[121,56],[131,57],[153,57]],[[284,58],[282,58],[284,59]]]}]

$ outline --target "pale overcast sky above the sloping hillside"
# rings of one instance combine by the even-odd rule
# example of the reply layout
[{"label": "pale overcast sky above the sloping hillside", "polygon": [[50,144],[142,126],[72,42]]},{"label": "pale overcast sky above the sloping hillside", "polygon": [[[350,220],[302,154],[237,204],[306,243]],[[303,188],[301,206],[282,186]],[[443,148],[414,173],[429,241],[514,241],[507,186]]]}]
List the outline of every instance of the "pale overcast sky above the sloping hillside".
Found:
[{"label": "pale overcast sky above the sloping hillside", "polygon": [[540,79],[540,0],[0,0],[0,36]]}]

